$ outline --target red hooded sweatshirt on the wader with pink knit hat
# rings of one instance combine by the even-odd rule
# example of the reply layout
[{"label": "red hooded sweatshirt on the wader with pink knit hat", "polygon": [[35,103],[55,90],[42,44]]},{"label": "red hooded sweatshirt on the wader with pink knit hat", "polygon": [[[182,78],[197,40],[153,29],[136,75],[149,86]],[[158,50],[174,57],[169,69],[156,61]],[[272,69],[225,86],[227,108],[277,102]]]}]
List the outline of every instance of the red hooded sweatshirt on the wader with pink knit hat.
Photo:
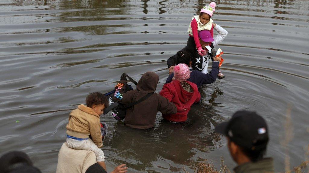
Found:
[{"label": "red hooded sweatshirt on the wader with pink knit hat", "polygon": [[185,91],[178,80],[173,80],[171,83],[164,84],[160,95],[167,98],[177,107],[177,113],[164,115],[163,118],[171,122],[184,122],[187,120],[188,112],[193,103],[201,100],[201,94],[197,89],[197,85],[193,82],[185,81],[190,84],[193,89],[192,93]]}]

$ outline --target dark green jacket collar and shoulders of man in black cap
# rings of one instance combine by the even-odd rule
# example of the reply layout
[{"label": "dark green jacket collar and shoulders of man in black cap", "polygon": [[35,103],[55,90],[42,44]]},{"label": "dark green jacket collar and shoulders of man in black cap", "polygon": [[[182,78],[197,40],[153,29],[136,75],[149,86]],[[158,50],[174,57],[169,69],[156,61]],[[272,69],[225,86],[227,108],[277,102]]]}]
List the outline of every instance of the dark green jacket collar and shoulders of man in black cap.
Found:
[{"label": "dark green jacket collar and shoulders of man in black cap", "polygon": [[273,159],[265,158],[257,162],[248,162],[234,168],[235,173],[273,173]]}]

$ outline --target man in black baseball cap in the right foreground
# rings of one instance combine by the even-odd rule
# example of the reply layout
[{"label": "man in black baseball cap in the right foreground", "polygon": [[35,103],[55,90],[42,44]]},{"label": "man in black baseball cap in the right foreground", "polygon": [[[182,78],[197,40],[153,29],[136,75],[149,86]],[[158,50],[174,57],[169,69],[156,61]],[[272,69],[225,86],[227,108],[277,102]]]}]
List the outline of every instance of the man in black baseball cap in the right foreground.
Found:
[{"label": "man in black baseball cap in the right foreground", "polygon": [[215,131],[227,138],[230,154],[238,164],[235,173],[274,172],[273,159],[264,158],[269,141],[267,124],[256,112],[237,111]]}]

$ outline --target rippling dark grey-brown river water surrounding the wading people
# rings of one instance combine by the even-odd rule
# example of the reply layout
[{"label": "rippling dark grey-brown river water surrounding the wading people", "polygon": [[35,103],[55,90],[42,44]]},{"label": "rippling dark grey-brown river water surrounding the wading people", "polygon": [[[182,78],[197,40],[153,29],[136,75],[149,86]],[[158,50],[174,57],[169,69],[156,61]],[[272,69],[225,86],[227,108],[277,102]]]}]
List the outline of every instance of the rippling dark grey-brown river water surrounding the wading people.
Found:
[{"label": "rippling dark grey-brown river water surrounding the wading people", "polygon": [[[28,153],[43,172],[55,172],[70,110],[89,92],[110,91],[123,72],[167,78],[166,60],[186,45],[188,24],[208,1],[0,0],[0,154]],[[125,127],[102,116],[109,133],[103,151],[109,171],[193,172],[221,156],[234,167],[214,125],[239,109],[268,122],[268,156],[284,171],[286,108],[292,106],[291,165],[309,144],[309,1],[218,0],[215,23],[229,34],[223,80],[202,88],[188,123],[170,124],[158,113],[155,128]],[[19,123],[15,123],[16,121]]]}]

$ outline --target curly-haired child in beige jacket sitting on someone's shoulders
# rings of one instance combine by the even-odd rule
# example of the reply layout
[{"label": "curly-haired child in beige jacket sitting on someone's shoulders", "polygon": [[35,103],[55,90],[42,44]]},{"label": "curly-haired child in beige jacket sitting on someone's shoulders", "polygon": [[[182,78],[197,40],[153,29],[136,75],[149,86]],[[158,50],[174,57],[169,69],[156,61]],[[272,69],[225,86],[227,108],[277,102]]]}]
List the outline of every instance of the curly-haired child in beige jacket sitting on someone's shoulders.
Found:
[{"label": "curly-haired child in beige jacket sitting on someone's shoulders", "polygon": [[97,163],[106,170],[104,153],[100,149],[103,146],[100,115],[108,101],[102,93],[94,92],[87,96],[86,105],[81,104],[70,113],[66,142],[70,148],[93,151]]}]

